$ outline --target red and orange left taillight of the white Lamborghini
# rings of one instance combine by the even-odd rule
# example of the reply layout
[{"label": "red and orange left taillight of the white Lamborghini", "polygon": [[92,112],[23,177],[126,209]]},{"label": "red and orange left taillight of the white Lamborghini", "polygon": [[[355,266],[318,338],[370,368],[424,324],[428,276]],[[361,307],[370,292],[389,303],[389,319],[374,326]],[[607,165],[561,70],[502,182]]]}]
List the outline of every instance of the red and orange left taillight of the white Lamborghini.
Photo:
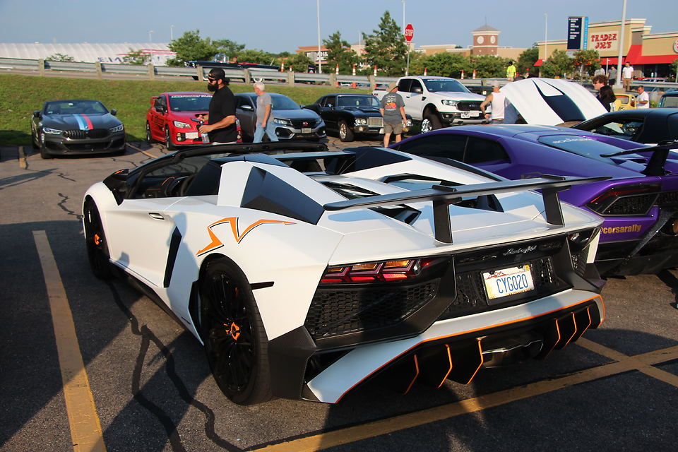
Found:
[{"label": "red and orange left taillight of the white Lamborghini", "polygon": [[388,283],[417,278],[436,258],[398,259],[328,267],[321,284]]}]

